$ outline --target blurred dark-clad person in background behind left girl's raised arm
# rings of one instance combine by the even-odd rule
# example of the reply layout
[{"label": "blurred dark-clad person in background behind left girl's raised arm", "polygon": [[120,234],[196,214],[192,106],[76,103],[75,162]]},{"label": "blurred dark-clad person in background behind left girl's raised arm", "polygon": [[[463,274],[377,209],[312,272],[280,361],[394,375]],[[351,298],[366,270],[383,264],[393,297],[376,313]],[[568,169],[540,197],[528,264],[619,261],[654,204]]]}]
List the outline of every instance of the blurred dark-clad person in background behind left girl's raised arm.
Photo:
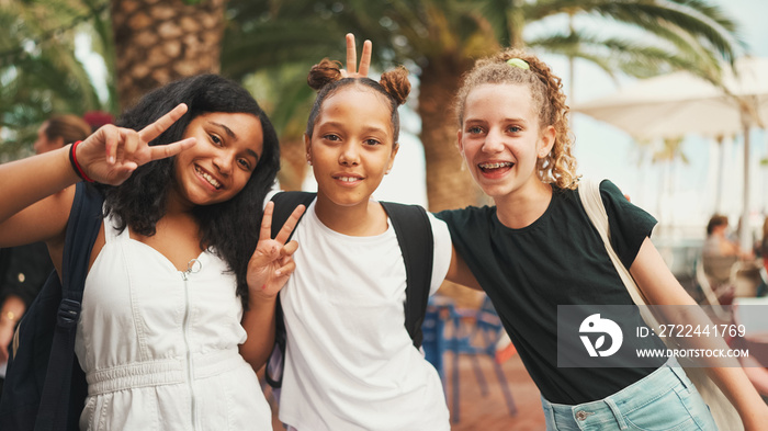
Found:
[{"label": "blurred dark-clad person in background behind left girl's raised arm", "polygon": [[[39,155],[86,139],[90,134],[91,126],[84,120],[54,115],[39,126],[32,147]],[[53,269],[44,242],[0,249],[0,394],[15,327]]]}]

